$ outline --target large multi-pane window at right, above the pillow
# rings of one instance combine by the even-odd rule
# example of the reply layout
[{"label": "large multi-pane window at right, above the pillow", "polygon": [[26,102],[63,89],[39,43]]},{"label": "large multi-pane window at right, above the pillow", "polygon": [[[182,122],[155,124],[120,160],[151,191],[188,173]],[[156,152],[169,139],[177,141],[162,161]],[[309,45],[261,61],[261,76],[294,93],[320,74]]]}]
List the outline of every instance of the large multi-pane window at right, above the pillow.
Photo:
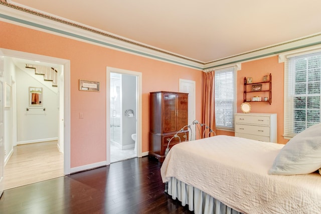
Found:
[{"label": "large multi-pane window at right, above the pillow", "polygon": [[288,57],[284,73],[284,135],[320,122],[321,52]]}]

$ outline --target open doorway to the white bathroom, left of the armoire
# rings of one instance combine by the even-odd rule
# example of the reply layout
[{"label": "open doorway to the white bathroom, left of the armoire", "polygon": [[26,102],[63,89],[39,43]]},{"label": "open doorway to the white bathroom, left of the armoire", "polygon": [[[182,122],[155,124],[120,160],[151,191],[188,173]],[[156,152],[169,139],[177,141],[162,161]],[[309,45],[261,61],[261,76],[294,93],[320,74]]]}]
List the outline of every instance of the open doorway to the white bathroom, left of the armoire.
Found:
[{"label": "open doorway to the white bathroom, left of the armoire", "polygon": [[107,164],[141,157],[141,73],[107,67]]}]

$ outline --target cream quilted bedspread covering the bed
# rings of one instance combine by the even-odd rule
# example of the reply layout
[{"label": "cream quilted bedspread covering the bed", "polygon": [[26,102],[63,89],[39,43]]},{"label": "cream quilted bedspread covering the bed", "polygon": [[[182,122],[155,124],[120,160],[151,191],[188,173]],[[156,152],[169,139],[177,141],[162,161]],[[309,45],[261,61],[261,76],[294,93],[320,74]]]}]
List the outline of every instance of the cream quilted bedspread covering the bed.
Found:
[{"label": "cream quilted bedspread covering the bed", "polygon": [[215,137],[175,145],[161,168],[244,213],[321,213],[321,175],[268,175],[283,147],[239,137]]}]

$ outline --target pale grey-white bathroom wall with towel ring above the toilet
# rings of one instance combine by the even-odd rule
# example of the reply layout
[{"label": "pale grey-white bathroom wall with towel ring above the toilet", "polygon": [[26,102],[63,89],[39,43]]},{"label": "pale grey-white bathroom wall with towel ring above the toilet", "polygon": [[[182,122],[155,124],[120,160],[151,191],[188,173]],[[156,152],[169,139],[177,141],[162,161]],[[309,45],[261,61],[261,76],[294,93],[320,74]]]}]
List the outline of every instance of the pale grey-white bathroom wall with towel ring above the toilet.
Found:
[{"label": "pale grey-white bathroom wall with towel ring above the toilet", "polygon": [[[136,77],[122,74],[122,145],[134,146],[131,134],[136,133]],[[132,109],[134,117],[126,117],[125,110]]]}]

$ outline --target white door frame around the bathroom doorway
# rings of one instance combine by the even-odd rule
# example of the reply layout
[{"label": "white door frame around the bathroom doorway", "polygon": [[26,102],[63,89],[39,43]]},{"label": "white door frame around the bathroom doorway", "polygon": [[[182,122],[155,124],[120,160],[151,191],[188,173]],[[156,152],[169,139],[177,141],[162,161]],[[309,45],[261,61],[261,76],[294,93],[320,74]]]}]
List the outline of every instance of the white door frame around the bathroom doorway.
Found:
[{"label": "white door frame around the bathroom doorway", "polygon": [[142,157],[142,73],[119,68],[106,67],[106,164],[110,164],[110,73],[133,75],[137,77],[137,157]]}]

